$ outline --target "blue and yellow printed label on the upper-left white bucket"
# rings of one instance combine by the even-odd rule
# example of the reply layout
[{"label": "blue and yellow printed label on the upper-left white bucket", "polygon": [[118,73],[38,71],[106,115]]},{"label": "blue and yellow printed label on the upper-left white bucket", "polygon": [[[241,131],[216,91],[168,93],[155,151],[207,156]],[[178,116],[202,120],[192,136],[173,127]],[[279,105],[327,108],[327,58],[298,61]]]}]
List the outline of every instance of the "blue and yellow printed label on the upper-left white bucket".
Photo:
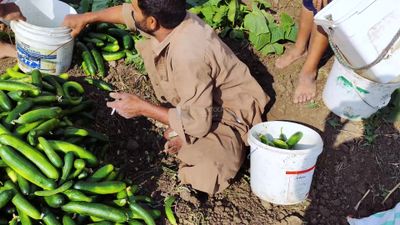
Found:
[{"label": "blue and yellow printed label on the upper-left white bucket", "polygon": [[22,42],[17,42],[16,47],[22,71],[38,69],[47,73],[56,72],[57,51],[35,49]]}]

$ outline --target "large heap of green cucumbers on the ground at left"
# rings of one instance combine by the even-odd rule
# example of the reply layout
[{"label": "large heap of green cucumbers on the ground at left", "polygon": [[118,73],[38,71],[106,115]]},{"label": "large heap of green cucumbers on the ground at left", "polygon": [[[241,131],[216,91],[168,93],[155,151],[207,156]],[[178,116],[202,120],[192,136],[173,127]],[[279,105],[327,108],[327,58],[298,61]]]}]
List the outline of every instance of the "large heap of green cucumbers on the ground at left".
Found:
[{"label": "large heap of green cucumbers on the ground at left", "polygon": [[155,224],[153,200],[99,163],[108,137],[86,128],[93,102],[68,77],[0,75],[0,225]]}]

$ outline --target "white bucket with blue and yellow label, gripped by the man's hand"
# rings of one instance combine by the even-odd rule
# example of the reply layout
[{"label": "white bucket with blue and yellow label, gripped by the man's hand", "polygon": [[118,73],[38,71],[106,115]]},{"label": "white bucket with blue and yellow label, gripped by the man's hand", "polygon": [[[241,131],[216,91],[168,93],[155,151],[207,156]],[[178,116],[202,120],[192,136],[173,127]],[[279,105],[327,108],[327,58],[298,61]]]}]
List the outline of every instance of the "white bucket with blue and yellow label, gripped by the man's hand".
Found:
[{"label": "white bucket with blue and yellow label, gripped by the man's hand", "polygon": [[71,30],[60,27],[64,17],[76,14],[74,8],[57,0],[18,0],[15,2],[27,18],[12,21],[18,64],[22,71],[39,69],[60,74],[71,65],[74,40]]}]

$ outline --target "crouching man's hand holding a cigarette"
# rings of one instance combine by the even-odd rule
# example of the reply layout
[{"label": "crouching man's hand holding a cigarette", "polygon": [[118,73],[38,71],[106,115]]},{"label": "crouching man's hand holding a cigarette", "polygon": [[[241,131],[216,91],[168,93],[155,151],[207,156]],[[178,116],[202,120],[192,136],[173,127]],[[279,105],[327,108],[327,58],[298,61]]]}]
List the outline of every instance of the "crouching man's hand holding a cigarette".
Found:
[{"label": "crouching man's hand holding a cigarette", "polygon": [[142,116],[144,107],[149,104],[136,95],[128,93],[110,93],[110,97],[115,101],[107,102],[107,107],[115,111],[126,119]]}]

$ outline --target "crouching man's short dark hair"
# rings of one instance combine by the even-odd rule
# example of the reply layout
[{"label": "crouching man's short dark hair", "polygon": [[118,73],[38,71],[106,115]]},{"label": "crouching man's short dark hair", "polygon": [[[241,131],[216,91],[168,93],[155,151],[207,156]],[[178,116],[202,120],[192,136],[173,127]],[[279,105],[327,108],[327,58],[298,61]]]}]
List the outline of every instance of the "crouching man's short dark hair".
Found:
[{"label": "crouching man's short dark hair", "polygon": [[178,26],[186,16],[185,0],[138,0],[139,8],[146,16],[153,16],[167,29]]}]

